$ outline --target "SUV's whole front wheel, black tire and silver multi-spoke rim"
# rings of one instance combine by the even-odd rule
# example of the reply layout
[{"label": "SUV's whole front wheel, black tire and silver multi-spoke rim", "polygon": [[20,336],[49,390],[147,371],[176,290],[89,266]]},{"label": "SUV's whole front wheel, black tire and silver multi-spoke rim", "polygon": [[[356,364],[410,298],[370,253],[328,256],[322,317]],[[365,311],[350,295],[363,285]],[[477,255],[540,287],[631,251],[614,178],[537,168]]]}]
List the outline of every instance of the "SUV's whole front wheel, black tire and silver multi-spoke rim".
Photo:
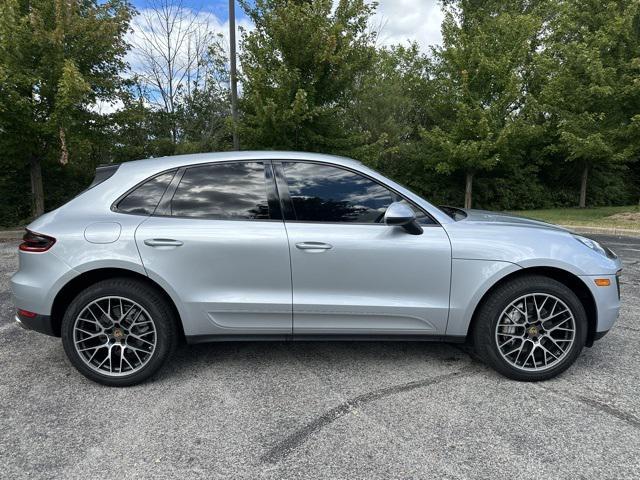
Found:
[{"label": "SUV's whole front wheel, black tire and silver multi-spoke rim", "polygon": [[499,286],[478,311],[476,353],[503,375],[546,380],[576,360],[587,337],[587,316],[566,285],[543,276]]}]

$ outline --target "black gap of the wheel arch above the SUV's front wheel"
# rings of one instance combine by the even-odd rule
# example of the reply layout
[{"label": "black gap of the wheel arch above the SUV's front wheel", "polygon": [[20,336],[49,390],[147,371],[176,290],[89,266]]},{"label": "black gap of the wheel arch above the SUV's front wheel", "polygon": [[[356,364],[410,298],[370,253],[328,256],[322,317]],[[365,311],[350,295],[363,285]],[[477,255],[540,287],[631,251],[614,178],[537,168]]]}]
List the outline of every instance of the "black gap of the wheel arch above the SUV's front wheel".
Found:
[{"label": "black gap of the wheel arch above the SUV's front wheel", "polygon": [[473,315],[471,317],[471,322],[469,322],[469,329],[467,331],[467,341],[471,341],[471,332],[473,332],[473,328],[478,321],[478,313],[481,310],[484,302],[489,298],[489,296],[501,285],[512,281],[515,278],[528,276],[528,275],[542,275],[544,277],[552,278],[563,285],[567,286],[573,293],[576,294],[584,310],[587,314],[587,323],[588,323],[588,331],[587,331],[587,342],[586,345],[588,347],[593,345],[595,341],[596,327],[598,324],[598,309],[596,306],[596,301],[593,298],[593,294],[589,291],[589,287],[587,287],[584,282],[577,275],[563,270],[557,267],[528,267],[523,268],[521,270],[517,270],[515,272],[509,273],[504,277],[500,278],[497,282],[495,282],[485,293],[482,295],[482,298],[476,305]]}]

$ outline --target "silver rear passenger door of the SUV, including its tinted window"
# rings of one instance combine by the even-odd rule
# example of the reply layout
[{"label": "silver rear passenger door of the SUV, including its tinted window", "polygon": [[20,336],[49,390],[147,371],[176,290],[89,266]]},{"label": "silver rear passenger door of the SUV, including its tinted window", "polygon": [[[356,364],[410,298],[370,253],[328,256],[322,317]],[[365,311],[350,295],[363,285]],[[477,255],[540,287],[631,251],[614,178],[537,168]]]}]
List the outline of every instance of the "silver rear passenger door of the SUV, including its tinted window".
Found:
[{"label": "silver rear passenger door of the SUV, including its tinted window", "polygon": [[182,168],[136,232],[149,276],[182,303],[186,335],[291,334],[287,234],[270,162]]}]

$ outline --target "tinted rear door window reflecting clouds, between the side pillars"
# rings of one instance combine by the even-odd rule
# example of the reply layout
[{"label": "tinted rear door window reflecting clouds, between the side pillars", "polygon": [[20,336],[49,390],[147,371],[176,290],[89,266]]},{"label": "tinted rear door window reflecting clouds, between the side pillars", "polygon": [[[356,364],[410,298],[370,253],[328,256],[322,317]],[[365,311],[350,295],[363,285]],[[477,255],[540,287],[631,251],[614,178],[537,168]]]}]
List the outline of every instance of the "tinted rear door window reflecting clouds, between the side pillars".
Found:
[{"label": "tinted rear door window reflecting clouds, between the side pillars", "polygon": [[171,201],[171,213],[226,220],[269,218],[264,165],[238,162],[188,168]]}]

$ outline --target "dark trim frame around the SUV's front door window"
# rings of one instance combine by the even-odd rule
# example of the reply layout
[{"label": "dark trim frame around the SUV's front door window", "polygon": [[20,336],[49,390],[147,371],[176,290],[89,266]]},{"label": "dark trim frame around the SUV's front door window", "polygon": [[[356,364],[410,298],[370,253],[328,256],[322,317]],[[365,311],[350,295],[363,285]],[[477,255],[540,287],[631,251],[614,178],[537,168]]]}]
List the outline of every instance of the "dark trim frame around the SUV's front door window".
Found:
[{"label": "dark trim frame around the SUV's front door window", "polygon": [[353,173],[355,175],[360,175],[361,177],[366,178],[367,180],[372,181],[373,183],[393,192],[394,194],[396,194],[398,197],[402,198],[402,200],[404,200],[405,202],[407,202],[411,208],[422,212],[427,218],[429,218],[432,223],[420,223],[420,225],[422,227],[440,227],[440,223],[433,218],[433,216],[427,212],[424,208],[422,208],[421,206],[417,205],[414,201],[408,199],[405,195],[401,194],[400,192],[398,192],[395,188],[390,187],[389,185],[382,183],[381,181],[371,177],[370,175],[367,175],[364,172],[361,172],[359,170],[356,170],[354,168],[350,168],[344,165],[337,165],[335,163],[330,163],[330,162],[322,162],[322,161],[316,161],[316,160],[273,160],[273,165],[276,169],[276,178],[277,178],[277,185],[278,185],[278,191],[280,193],[280,201],[283,203],[283,212],[285,212],[285,221],[286,222],[292,222],[292,223],[312,223],[312,224],[324,224],[324,225],[382,225],[382,226],[388,226],[386,223],[384,222],[380,222],[380,223],[370,223],[370,222],[318,222],[318,221],[314,221],[314,220],[298,220],[296,218],[296,214],[295,214],[295,209],[293,208],[293,201],[291,200],[291,195],[289,193],[289,184],[287,183],[287,177],[284,171],[284,163],[312,163],[315,165],[324,165],[327,167],[333,167],[333,168],[338,168],[341,170],[346,170],[350,173]]}]

